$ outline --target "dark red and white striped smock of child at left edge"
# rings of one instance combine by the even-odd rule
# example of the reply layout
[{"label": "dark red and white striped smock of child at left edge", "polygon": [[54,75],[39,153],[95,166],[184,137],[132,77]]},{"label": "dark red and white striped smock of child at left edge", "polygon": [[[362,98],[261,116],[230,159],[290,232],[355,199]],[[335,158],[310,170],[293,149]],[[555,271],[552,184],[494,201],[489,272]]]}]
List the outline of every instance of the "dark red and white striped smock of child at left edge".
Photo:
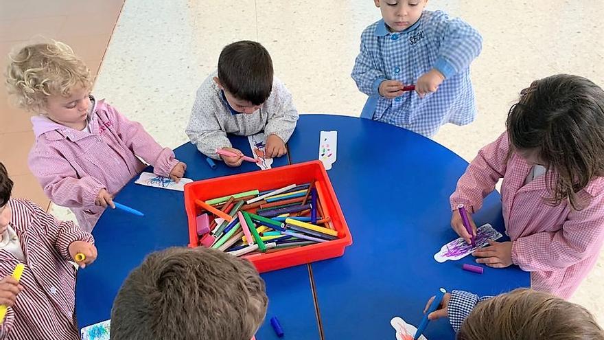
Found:
[{"label": "dark red and white striped smock of child at left edge", "polygon": [[[56,220],[38,205],[21,199],[8,202],[11,225],[25,255],[25,270],[16,296],[0,326],[0,339],[80,339],[75,323],[75,269],[67,250],[71,242],[94,242],[72,222]],[[17,260],[0,249],[0,277],[11,275]]]}]

